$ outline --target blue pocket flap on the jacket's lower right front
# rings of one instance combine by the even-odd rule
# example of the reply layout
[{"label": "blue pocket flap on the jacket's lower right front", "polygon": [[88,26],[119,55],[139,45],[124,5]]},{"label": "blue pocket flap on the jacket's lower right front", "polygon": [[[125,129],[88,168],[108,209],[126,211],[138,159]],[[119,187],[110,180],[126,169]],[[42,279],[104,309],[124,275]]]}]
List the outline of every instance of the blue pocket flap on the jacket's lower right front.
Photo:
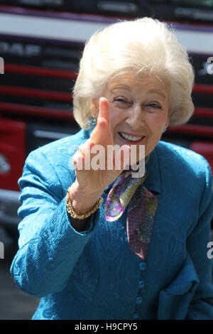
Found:
[{"label": "blue pocket flap on the jacket's lower right front", "polygon": [[159,320],[185,319],[199,285],[199,278],[187,253],[185,263],[171,284],[160,291],[157,318]]}]

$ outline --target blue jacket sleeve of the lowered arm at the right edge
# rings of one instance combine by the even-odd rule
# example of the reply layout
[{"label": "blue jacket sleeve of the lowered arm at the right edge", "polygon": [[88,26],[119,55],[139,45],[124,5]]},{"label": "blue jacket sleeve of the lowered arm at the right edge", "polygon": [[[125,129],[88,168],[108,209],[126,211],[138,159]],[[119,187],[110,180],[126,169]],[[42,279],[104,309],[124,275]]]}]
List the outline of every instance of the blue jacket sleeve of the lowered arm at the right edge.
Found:
[{"label": "blue jacket sleeve of the lowered arm at the right edge", "polygon": [[211,241],[211,220],[213,214],[212,172],[209,164],[204,161],[204,191],[200,203],[199,220],[187,238],[187,250],[199,277],[195,295],[190,303],[186,319],[213,319],[213,284],[212,257],[209,256]]}]

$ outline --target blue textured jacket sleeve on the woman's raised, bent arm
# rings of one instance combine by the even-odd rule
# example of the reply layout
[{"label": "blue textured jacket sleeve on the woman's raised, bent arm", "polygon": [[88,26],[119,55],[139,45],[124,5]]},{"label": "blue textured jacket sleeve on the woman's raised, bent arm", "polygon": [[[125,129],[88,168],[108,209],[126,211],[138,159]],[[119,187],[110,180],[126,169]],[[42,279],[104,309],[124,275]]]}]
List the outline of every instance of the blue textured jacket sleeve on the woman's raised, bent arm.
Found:
[{"label": "blue textured jacket sleeve on the woman's raised, bent arm", "polygon": [[94,233],[99,210],[91,216],[89,230],[77,232],[72,227],[62,185],[40,150],[29,154],[18,185],[21,188],[18,215],[22,220],[18,225],[19,249],[11,264],[11,274],[23,291],[47,296],[66,286]]}]

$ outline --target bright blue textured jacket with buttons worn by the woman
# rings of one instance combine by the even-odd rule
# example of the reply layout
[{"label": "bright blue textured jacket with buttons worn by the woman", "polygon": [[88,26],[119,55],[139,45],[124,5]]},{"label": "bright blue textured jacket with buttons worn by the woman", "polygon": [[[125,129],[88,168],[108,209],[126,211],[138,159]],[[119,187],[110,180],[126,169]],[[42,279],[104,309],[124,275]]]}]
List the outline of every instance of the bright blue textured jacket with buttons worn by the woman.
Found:
[{"label": "bright blue textured jacket with buttons worn by the woman", "polygon": [[158,210],[141,261],[127,242],[126,212],[109,224],[102,203],[84,232],[70,224],[69,166],[90,131],[31,152],[18,180],[22,220],[11,274],[20,289],[41,297],[33,319],[213,319],[209,164],[164,141],[151,152],[144,185]]}]

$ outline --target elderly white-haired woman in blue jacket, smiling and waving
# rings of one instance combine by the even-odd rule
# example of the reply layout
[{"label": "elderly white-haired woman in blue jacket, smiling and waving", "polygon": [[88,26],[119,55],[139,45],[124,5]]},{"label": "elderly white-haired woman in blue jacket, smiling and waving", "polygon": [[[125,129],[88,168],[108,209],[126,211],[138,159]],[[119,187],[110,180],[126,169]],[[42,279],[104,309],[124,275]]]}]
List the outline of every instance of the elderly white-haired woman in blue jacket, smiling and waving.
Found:
[{"label": "elderly white-haired woman in blue jacket, smiling and waving", "polygon": [[[89,39],[73,92],[82,129],[31,152],[18,181],[11,274],[41,298],[33,319],[213,318],[212,174],[199,154],[160,141],[192,116],[193,82],[185,48],[158,20]],[[112,168],[92,168],[97,145]],[[133,177],[129,156],[136,148],[141,162],[143,147],[145,173]]]}]

